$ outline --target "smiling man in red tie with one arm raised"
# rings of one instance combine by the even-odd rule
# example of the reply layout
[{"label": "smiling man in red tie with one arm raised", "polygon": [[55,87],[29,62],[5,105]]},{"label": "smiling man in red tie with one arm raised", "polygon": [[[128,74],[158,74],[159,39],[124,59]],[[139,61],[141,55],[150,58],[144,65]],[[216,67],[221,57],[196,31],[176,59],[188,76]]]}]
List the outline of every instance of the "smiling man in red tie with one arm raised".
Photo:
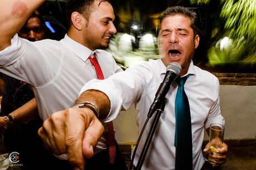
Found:
[{"label": "smiling man in red tie with one arm raised", "polygon": [[[85,82],[107,78],[122,69],[110,53],[102,50],[109,46],[116,33],[114,9],[109,1],[67,1],[68,32],[61,41],[29,42],[19,38],[16,33],[43,2],[9,0],[0,3],[0,71],[32,85],[38,112],[45,120],[53,112],[71,107]],[[76,107],[93,106],[85,103]],[[112,122],[99,124],[99,130],[104,133],[95,143],[94,156],[87,157],[90,159],[86,159],[86,168],[126,169],[113,138]],[[72,158],[62,153],[55,152],[61,159]],[[82,149],[77,154],[82,155]],[[70,167],[63,165],[58,169]]]}]

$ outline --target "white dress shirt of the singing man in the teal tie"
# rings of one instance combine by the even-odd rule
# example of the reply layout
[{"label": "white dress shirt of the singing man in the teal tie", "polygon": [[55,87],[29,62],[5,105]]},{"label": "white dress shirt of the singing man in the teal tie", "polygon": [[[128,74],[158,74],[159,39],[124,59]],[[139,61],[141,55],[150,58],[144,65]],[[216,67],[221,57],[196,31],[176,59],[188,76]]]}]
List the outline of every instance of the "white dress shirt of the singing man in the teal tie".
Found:
[{"label": "white dress shirt of the singing man in the teal tie", "polygon": [[[103,81],[92,80],[82,88],[81,92],[86,89],[98,89],[107,94],[111,102],[111,111],[106,121],[111,121],[121,109],[128,109],[135,102],[136,123],[139,126],[139,131],[141,131],[155,93],[164,79],[165,72],[166,67],[160,59],[141,62],[126,69],[125,72],[117,73]],[[190,104],[193,168],[200,169],[204,164],[201,152],[204,128],[209,128],[211,123],[224,123],[224,119],[220,114],[219,81],[213,74],[194,66],[193,62],[190,63],[187,74],[193,74],[187,79],[184,86]],[[174,82],[166,94],[165,110],[157,124],[156,132],[147,151],[142,169],[164,170],[175,168],[174,103],[177,89],[178,84]],[[150,123],[141,138],[136,152],[135,165],[153,119],[150,119]]]}]

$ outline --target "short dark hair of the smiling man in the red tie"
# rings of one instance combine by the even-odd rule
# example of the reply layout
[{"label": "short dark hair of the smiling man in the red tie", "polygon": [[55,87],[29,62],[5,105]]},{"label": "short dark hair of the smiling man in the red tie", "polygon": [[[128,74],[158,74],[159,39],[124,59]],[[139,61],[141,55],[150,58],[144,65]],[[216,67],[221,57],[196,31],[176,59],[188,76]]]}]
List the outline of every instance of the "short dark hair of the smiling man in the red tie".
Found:
[{"label": "short dark hair of the smiling man in the red tie", "polygon": [[[71,26],[71,14],[75,11],[81,13],[88,20],[93,11],[92,4],[95,1],[97,0],[67,0],[66,19],[68,28]],[[104,1],[110,2],[110,0],[101,0],[99,5]]]}]

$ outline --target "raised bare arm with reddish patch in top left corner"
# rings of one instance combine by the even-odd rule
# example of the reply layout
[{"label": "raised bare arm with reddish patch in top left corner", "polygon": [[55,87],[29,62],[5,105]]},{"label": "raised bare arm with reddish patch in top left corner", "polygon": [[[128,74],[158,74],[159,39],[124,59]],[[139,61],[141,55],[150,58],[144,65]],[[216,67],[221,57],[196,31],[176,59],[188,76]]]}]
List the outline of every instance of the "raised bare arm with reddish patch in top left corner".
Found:
[{"label": "raised bare arm with reddish patch in top left corner", "polygon": [[11,44],[13,35],[21,29],[29,15],[44,0],[8,0],[0,1],[0,50]]}]

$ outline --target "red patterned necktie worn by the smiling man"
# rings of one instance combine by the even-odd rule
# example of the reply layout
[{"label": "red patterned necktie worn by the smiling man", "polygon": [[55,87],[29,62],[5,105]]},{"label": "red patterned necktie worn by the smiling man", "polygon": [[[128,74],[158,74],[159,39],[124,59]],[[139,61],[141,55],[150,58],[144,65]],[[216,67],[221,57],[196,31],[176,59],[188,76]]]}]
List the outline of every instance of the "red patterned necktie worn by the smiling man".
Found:
[{"label": "red patterned necktie worn by the smiling man", "polygon": [[[92,66],[95,68],[98,79],[104,79],[104,75],[101,71],[99,62],[97,61],[96,54],[94,53],[93,57],[90,56],[89,59]],[[115,142],[115,132],[114,132],[112,121],[107,123],[107,132],[108,132],[107,140],[109,144],[109,163],[113,164],[116,157],[116,142]]]}]

